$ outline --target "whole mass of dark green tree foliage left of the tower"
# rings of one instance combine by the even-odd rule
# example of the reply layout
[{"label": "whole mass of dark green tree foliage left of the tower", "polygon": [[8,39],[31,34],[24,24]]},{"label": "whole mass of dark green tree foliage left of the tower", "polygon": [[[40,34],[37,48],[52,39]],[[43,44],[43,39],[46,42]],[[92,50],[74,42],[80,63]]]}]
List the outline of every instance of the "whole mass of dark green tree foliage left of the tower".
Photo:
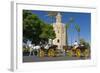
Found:
[{"label": "whole mass of dark green tree foliage left of the tower", "polygon": [[31,11],[23,11],[23,40],[29,39],[36,45],[41,40],[54,39],[53,26],[45,23]]}]

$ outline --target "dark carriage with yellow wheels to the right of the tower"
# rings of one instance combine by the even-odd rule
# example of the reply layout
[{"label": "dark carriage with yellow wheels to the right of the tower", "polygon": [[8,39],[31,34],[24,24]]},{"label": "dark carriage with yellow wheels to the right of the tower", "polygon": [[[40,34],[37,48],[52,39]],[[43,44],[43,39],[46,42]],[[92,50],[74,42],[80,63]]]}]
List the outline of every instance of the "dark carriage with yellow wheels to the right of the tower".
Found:
[{"label": "dark carriage with yellow wheels to the right of the tower", "polygon": [[66,50],[67,55],[72,56],[72,57],[84,57],[88,58],[90,56],[90,49],[87,48],[84,45],[79,45],[79,46],[71,46],[69,49]]}]

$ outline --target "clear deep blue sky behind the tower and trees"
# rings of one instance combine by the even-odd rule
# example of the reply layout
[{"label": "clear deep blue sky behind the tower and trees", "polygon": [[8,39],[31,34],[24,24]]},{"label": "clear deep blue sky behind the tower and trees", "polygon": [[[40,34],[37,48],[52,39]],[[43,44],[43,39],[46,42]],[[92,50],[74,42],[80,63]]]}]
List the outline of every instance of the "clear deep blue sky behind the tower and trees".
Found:
[{"label": "clear deep blue sky behind the tower and trees", "polygon": [[[46,23],[55,22],[54,18],[51,18],[48,15],[47,11],[32,11],[33,14],[36,14],[41,20]],[[71,44],[77,40],[77,31],[75,30],[74,24],[80,26],[80,37],[84,38],[87,42],[91,41],[91,13],[79,13],[79,12],[61,12],[62,23],[66,24],[69,19],[72,17],[74,23],[71,24],[68,29],[68,43]]]}]

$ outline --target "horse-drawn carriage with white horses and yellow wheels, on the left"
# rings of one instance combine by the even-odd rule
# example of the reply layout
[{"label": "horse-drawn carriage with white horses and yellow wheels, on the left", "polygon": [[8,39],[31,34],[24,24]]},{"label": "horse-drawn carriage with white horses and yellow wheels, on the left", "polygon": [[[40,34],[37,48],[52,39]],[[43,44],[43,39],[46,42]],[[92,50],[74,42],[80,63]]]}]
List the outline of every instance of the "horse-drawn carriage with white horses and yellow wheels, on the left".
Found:
[{"label": "horse-drawn carriage with white horses and yellow wheels, on the left", "polygon": [[34,55],[38,57],[55,57],[58,56],[57,45],[33,46],[32,44],[23,46],[23,55]]}]

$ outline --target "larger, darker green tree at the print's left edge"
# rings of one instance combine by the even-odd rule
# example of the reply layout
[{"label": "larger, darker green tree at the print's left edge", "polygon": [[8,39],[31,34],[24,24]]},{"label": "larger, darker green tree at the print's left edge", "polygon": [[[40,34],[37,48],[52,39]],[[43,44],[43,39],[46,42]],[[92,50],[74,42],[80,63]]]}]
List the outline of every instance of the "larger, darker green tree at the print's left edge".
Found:
[{"label": "larger, darker green tree at the print's left edge", "polygon": [[43,22],[35,15],[28,15],[23,21],[23,36],[26,39],[32,40],[33,43],[39,44],[39,35]]}]

